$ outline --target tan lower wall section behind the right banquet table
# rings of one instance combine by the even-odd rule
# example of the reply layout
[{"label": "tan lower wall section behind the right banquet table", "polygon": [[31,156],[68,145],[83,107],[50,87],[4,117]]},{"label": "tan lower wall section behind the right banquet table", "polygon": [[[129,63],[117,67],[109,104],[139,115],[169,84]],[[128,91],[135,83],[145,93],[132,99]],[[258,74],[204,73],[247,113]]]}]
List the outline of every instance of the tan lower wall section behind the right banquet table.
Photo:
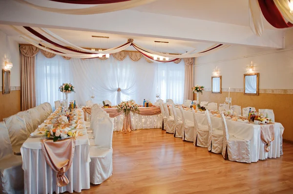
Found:
[{"label": "tan lower wall section behind the right banquet table", "polygon": [[[228,88],[229,90],[229,88]],[[275,89],[274,89],[275,90]],[[224,103],[228,92],[223,91],[222,94],[212,94],[211,91],[204,91],[199,94],[199,101],[208,101],[214,103]],[[275,115],[275,121],[282,123],[285,128],[283,138],[293,141],[293,126],[292,126],[292,110],[293,110],[293,95],[285,93],[260,93],[258,96],[244,95],[241,92],[231,92],[232,105],[241,107],[252,106],[256,111],[259,108],[272,109]],[[194,94],[196,99],[196,94]]]}]

